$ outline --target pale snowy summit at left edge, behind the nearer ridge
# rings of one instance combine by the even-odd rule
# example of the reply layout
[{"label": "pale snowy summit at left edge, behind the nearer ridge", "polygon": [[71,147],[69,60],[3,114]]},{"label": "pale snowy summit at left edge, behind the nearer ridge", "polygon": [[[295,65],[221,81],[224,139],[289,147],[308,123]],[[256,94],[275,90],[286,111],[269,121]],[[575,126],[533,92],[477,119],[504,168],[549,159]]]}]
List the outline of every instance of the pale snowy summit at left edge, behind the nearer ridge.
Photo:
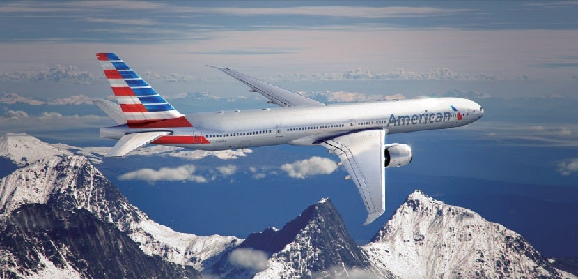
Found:
[{"label": "pale snowy summit at left edge, behind the nearer ridge", "polygon": [[0,157],[9,158],[19,167],[48,156],[70,155],[70,151],[58,149],[26,133],[6,133],[0,137]]}]

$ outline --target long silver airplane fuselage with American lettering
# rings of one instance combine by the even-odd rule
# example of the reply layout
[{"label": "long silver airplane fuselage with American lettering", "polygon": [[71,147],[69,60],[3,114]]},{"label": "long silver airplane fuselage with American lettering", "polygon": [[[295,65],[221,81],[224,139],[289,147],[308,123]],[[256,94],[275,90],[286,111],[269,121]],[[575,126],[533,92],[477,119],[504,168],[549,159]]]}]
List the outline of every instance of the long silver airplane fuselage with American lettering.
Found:
[{"label": "long silver airplane fuselage with American lettering", "polygon": [[321,140],[357,130],[383,128],[393,134],[459,127],[478,120],[483,113],[480,105],[464,98],[420,98],[195,113],[186,115],[192,128],[134,129],[118,125],[101,128],[100,136],[118,140],[126,133],[166,130],[171,135],[206,139],[166,145],[202,150],[278,144],[315,146]]}]

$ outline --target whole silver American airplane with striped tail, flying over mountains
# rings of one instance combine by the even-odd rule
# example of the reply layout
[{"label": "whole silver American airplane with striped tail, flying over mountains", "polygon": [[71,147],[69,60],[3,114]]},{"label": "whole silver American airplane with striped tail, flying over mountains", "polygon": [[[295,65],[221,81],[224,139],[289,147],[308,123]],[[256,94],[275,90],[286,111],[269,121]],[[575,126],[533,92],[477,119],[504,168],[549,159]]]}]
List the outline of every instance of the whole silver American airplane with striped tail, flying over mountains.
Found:
[{"label": "whole silver American airplane with striped tail, flying over mountains", "polygon": [[324,146],[341,160],[361,195],[368,217],[385,211],[385,169],[412,161],[407,144],[386,135],[464,126],[481,118],[481,105],[464,98],[418,98],[325,104],[229,68],[211,66],[249,86],[279,107],[181,114],[114,53],[97,53],[118,105],[94,100],[116,126],[100,137],[118,140],[107,157],[125,156],[146,144],[226,150],[292,144]]}]

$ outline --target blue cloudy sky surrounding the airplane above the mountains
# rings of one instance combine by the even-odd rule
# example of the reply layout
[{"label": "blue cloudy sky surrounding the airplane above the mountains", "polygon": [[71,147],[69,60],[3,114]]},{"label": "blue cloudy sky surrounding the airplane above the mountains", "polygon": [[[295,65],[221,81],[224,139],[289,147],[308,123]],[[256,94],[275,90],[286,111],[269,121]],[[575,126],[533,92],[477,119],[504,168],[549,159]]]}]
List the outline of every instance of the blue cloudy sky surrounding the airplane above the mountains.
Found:
[{"label": "blue cloudy sky surrounding the airplane above the mountains", "polygon": [[[6,101],[0,103],[0,133],[112,146],[97,138],[98,127],[113,125],[97,107],[54,105],[72,96],[111,95],[96,52],[116,52],[184,113],[267,105],[208,64],[329,102],[464,96],[485,107],[481,121],[388,137],[412,145],[415,160],[388,172],[388,211],[373,227],[359,225],[364,209],[353,183],[343,181],[343,169],[306,179],[283,170],[315,156],[337,160],[322,148],[266,147],[236,160],[147,156],[127,164],[129,156],[97,167],[160,223],[198,234],[245,237],[281,226],[308,204],[331,197],[354,238],[370,239],[419,187],[533,235],[538,229],[532,222],[519,225],[519,215],[502,218],[490,210],[491,202],[482,206],[468,195],[480,188],[498,195],[499,187],[508,186],[508,195],[518,193],[512,202],[522,206],[518,212],[530,212],[524,211],[526,198],[544,204],[558,200],[556,195],[576,195],[564,189],[578,186],[577,12],[575,1],[2,1],[0,98]],[[8,93],[47,103],[7,103]],[[197,95],[178,98],[187,93]],[[120,179],[146,168],[159,173],[159,164],[184,173],[185,182]],[[479,187],[463,187],[458,178]],[[467,190],[452,194],[448,189],[454,186]],[[556,190],[522,199],[524,187],[534,186]],[[200,198],[205,195],[236,201],[212,210]],[[171,209],[177,197],[198,205],[178,199],[182,204]],[[561,208],[568,205],[563,202]],[[211,221],[187,217],[198,211]],[[231,229],[228,224],[240,216],[255,218]],[[570,248],[578,245],[576,236],[563,237],[574,243]]]}]

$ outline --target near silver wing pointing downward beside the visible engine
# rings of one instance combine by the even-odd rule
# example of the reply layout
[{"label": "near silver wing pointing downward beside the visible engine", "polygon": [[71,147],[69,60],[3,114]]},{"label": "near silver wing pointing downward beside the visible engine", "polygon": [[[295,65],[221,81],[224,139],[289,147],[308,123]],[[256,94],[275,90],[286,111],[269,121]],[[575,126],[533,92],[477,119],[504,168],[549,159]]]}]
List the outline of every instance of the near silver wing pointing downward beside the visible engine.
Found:
[{"label": "near silver wing pointing downward beside the visible engine", "polygon": [[372,223],[385,211],[385,135],[386,130],[363,130],[324,140],[321,145],[341,159],[364,200]]}]

